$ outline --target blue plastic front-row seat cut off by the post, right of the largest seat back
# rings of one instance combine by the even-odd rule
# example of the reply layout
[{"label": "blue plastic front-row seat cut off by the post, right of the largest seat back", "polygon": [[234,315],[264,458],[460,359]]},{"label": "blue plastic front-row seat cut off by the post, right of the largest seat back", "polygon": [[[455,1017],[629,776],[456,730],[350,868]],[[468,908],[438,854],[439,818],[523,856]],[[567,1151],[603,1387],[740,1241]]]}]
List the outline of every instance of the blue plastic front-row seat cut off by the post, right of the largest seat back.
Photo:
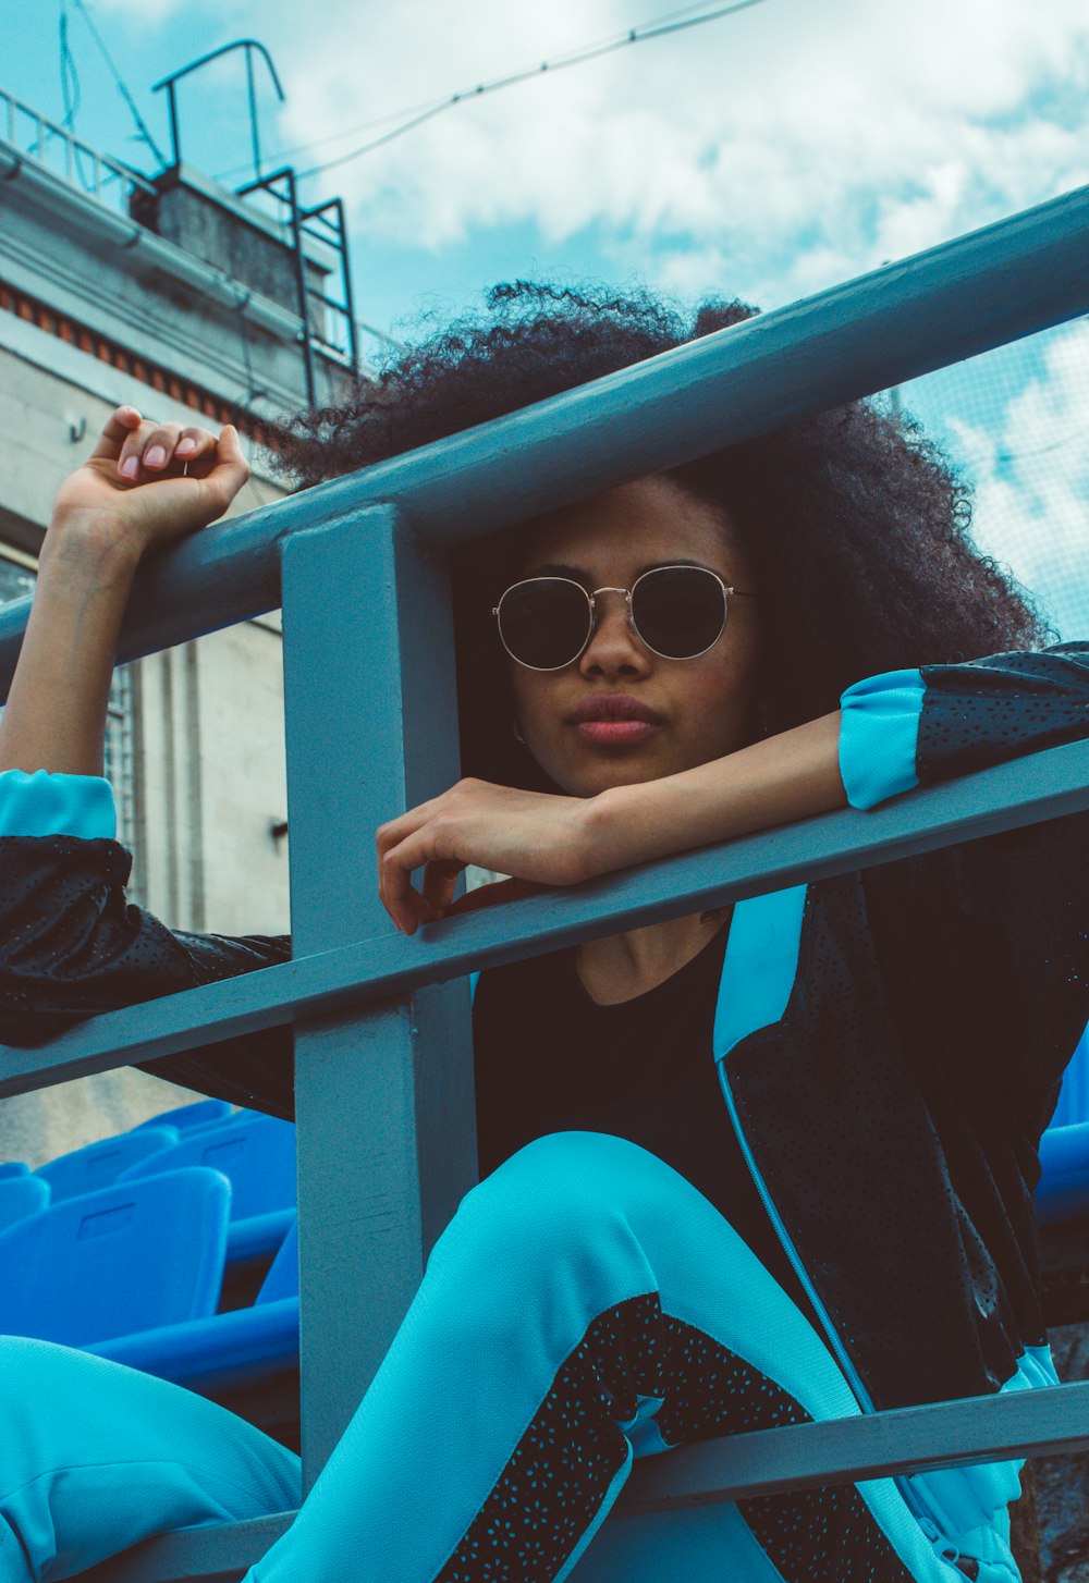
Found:
[{"label": "blue plastic front-row seat cut off by the post, right of the largest seat back", "polygon": [[192,1390],[225,1391],[299,1361],[299,1239],[293,1225],[253,1308],[85,1349]]}]

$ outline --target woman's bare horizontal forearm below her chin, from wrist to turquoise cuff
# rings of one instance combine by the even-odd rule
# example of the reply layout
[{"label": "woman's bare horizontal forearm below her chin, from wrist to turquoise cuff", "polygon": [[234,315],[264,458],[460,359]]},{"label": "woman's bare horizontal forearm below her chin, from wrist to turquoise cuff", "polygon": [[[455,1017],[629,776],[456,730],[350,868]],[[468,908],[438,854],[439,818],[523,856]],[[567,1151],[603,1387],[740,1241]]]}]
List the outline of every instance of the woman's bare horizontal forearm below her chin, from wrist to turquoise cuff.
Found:
[{"label": "woman's bare horizontal forearm below her chin, from wrist to turquoise cuff", "polygon": [[616,787],[590,799],[587,815],[597,871],[671,856],[845,807],[839,722],[836,711],[695,769]]}]

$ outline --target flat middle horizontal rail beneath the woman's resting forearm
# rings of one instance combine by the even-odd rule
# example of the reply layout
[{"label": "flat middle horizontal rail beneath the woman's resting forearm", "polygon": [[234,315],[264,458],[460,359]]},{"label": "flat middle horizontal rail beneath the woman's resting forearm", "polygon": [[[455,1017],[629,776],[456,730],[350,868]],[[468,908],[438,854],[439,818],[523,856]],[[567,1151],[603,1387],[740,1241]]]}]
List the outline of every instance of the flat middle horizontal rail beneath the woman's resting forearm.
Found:
[{"label": "flat middle horizontal rail beneath the woman's resting forearm", "polygon": [[421,985],[658,918],[1086,809],[1089,741],[1070,742],[910,792],[867,814],[844,809],[663,858],[587,885],[443,920],[415,939],[391,924],[388,932],[353,945],[104,1013],[41,1048],[0,1046],[0,1095],[155,1061],[304,1015],[404,996]]}]

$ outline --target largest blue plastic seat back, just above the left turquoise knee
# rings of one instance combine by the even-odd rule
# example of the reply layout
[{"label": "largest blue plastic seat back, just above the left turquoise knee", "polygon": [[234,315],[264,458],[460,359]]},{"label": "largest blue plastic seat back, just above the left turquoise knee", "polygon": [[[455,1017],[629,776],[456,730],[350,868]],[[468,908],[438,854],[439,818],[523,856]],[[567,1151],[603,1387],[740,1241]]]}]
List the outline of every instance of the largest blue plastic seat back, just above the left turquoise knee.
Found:
[{"label": "largest blue plastic seat back, just above the left turquoise knee", "polygon": [[231,1189],[187,1170],[66,1198],[0,1232],[0,1333],[84,1347],[215,1312]]}]

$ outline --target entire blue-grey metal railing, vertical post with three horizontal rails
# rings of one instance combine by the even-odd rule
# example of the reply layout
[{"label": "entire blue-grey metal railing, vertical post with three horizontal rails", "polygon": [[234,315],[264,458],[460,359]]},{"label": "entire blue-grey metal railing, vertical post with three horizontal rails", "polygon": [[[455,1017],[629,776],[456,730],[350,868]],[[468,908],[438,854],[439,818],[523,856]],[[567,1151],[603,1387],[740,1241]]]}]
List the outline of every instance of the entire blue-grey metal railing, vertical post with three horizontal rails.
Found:
[{"label": "entire blue-grey metal railing, vertical post with three horizontal rails", "polygon": [[[405,939],[378,904],[374,829],[459,776],[446,551],[1084,313],[1087,241],[1083,188],[212,527],[141,571],[122,660],[283,609],[294,959],[0,1050],[0,1094],[294,1024],[307,1485],[475,1179],[470,969],[1089,809],[1076,742]],[[27,609],[0,614],[5,690]],[[1083,1445],[1089,1384],[769,1429],[638,1466],[614,1520]],[[226,1583],[288,1520],[166,1536],[93,1577]]]}]

